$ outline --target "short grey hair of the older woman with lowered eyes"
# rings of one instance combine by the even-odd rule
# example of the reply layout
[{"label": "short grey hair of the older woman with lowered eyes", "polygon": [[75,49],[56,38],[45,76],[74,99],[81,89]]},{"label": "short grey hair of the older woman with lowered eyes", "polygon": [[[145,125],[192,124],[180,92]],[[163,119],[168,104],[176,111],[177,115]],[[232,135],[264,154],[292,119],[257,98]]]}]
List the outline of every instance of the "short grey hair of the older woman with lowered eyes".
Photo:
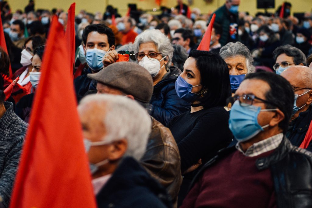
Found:
[{"label": "short grey hair of the older woman with lowered eyes", "polygon": [[247,74],[253,73],[256,71],[255,66],[253,65],[253,58],[249,49],[242,44],[241,42],[235,43],[228,43],[227,45],[223,46],[219,52],[220,56],[223,60],[229,57],[235,56],[242,56],[246,59],[246,66],[247,66]]}]

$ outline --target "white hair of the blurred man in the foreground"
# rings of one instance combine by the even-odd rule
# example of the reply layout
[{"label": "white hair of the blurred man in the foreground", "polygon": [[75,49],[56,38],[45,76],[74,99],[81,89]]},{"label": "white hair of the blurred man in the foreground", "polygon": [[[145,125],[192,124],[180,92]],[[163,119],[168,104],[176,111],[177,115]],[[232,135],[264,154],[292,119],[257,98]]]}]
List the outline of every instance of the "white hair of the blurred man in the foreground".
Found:
[{"label": "white hair of the blurred man in the foreground", "polygon": [[126,139],[128,147],[124,156],[140,160],[146,150],[152,126],[147,111],[132,99],[111,94],[86,96],[80,101],[78,111],[81,112],[89,106],[97,106],[105,112],[101,119],[107,133],[102,140],[111,143]]}]

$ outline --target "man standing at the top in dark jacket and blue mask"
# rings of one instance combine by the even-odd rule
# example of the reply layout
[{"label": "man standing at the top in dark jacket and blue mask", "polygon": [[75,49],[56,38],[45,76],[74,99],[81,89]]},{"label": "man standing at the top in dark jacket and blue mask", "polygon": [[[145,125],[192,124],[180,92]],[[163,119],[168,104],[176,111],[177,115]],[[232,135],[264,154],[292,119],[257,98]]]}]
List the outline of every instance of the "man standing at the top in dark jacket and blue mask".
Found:
[{"label": "man standing at the top in dark jacket and blue mask", "polygon": [[213,12],[216,14],[215,23],[222,25],[222,36],[219,40],[221,46],[225,46],[228,42],[239,40],[238,7],[240,2],[240,0],[227,0],[222,7]]}]

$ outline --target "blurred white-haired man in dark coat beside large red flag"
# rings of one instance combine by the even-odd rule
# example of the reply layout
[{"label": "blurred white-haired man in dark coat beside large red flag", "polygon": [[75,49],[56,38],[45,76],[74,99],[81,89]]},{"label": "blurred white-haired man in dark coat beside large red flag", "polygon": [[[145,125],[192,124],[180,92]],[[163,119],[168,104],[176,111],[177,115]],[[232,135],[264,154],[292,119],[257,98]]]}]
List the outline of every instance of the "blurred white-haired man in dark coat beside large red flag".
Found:
[{"label": "blurred white-haired man in dark coat beside large red flag", "polygon": [[146,110],[123,96],[97,94],[82,99],[78,112],[98,207],[171,207],[137,162],[151,131]]}]

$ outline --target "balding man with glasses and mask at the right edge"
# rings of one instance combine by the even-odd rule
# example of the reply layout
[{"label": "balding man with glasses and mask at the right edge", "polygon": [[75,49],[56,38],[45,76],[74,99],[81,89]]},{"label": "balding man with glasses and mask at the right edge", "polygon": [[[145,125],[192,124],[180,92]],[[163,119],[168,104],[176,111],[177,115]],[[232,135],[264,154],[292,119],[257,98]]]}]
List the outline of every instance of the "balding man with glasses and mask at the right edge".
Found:
[{"label": "balding man with glasses and mask at the right edge", "polygon": [[[312,71],[307,66],[291,66],[281,74],[294,88],[293,115],[286,136],[299,147],[312,120]],[[312,151],[312,143],[307,150]]]}]

